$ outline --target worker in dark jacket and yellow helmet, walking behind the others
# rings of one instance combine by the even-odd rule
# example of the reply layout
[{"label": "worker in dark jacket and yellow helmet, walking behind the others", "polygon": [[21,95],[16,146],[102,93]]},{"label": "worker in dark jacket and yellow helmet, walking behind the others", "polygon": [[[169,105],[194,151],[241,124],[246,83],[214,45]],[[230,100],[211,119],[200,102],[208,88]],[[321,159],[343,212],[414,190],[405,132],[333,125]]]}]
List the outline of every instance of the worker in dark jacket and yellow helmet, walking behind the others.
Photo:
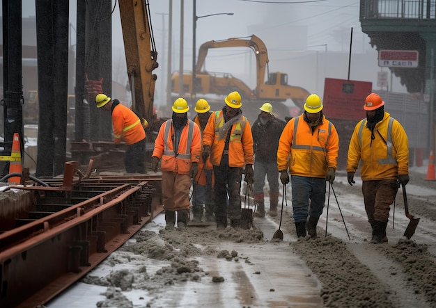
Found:
[{"label": "worker in dark jacket and yellow helmet, walking behind the others", "polygon": [[254,141],[254,200],[257,203],[255,217],[265,217],[263,186],[265,176],[270,186],[270,216],[277,216],[279,203],[279,170],[277,170],[277,149],[286,122],[272,113],[270,103],[263,104],[260,114],[251,127]]}]

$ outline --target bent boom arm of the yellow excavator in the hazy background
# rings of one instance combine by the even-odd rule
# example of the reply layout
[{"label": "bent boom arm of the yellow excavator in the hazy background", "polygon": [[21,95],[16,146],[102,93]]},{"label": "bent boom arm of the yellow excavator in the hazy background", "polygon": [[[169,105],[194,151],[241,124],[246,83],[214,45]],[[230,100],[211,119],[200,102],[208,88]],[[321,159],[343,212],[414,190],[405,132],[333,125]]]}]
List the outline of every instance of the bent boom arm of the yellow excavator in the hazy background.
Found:
[{"label": "bent boom arm of the yellow excavator in the hazy background", "polygon": [[259,87],[264,82],[265,70],[270,60],[268,60],[267,47],[256,35],[251,35],[249,40],[244,38],[228,38],[226,40],[210,40],[201,44],[198,50],[196,74],[201,73],[201,67],[203,67],[209,49],[226,47],[249,47],[254,51],[257,66],[256,86]]}]

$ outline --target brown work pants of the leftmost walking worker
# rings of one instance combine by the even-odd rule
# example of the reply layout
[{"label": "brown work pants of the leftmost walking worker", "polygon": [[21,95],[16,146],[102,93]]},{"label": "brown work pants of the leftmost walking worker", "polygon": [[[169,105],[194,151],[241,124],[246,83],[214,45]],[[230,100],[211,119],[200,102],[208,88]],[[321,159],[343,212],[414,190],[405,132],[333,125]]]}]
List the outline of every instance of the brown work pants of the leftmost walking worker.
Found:
[{"label": "brown work pants of the leftmost walking worker", "polygon": [[191,177],[175,172],[162,172],[162,199],[164,209],[180,211],[189,209]]}]

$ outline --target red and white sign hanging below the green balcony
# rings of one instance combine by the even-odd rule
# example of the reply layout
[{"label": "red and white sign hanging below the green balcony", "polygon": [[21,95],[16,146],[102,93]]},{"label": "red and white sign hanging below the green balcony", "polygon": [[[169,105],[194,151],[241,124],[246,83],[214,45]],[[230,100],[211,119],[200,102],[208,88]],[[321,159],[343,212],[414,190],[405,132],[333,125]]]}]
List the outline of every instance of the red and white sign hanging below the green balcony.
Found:
[{"label": "red and white sign hanging below the green balcony", "polygon": [[380,50],[378,51],[378,66],[418,67],[418,54],[416,50]]}]

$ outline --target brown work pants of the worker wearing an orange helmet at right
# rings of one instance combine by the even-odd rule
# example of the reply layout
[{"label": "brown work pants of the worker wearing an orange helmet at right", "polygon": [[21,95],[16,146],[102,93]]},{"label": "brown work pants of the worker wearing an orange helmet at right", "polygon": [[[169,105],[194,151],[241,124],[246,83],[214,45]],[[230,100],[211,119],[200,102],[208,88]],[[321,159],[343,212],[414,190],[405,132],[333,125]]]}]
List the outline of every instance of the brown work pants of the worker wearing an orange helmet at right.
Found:
[{"label": "brown work pants of the worker wearing an orange helmet at right", "polygon": [[363,181],[362,193],[369,222],[389,219],[389,209],[394,203],[397,191],[398,183],[394,179]]}]

